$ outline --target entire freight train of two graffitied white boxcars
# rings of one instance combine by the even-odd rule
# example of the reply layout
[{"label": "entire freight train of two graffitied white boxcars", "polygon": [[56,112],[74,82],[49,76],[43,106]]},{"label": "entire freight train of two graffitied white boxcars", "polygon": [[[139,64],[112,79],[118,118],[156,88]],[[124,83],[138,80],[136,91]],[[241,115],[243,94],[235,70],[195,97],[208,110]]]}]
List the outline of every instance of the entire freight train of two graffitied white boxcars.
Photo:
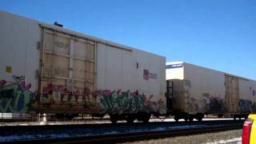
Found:
[{"label": "entire freight train of two graffitied white boxcars", "polygon": [[256,82],[0,11],[0,113],[246,117]]}]

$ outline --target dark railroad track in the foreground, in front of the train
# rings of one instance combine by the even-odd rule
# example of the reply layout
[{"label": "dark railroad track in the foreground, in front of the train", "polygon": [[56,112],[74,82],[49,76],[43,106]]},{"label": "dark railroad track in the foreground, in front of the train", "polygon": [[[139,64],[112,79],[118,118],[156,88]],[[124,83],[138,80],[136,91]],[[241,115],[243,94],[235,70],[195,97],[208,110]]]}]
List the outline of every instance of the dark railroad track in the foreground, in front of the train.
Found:
[{"label": "dark railroad track in the foreground, in front of the train", "polygon": [[[142,128],[143,124],[135,124],[134,128]],[[170,138],[180,135],[190,134],[202,134],[210,132],[218,132],[224,130],[237,130],[242,129],[243,121],[226,121],[226,122],[156,122],[146,124],[146,126],[158,125],[158,128],[166,126],[163,130],[142,130],[136,132],[125,132],[125,133],[113,133],[113,134],[96,134],[96,135],[84,135],[84,136],[73,136],[68,138],[35,138],[30,140],[18,140],[7,143],[95,143],[95,142],[134,142],[139,140],[154,139],[154,138]],[[170,125],[170,126],[169,126]],[[111,125],[102,125],[108,128]],[[114,126],[114,125],[112,125]],[[128,127],[129,125],[120,125],[121,128]],[[65,127],[65,126],[63,126]],[[62,127],[62,128],[63,128]],[[117,126],[118,127],[118,126]],[[54,127],[53,127],[54,129]]]}]

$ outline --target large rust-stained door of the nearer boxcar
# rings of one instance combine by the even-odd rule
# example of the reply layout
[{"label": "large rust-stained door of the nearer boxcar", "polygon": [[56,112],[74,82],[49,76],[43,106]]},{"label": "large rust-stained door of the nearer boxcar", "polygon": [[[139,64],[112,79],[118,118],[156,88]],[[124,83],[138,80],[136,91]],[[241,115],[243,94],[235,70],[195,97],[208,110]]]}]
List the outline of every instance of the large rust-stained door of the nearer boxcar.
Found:
[{"label": "large rust-stained door of the nearer boxcar", "polygon": [[85,97],[95,87],[95,49],[95,42],[42,29],[39,91],[45,109],[73,113],[92,101]]}]

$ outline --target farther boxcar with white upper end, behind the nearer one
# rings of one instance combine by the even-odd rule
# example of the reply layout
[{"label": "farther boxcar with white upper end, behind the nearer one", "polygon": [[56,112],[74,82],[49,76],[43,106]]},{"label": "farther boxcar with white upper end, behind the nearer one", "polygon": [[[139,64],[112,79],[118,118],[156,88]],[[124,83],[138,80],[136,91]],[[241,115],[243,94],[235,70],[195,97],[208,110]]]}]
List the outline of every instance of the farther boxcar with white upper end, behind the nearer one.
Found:
[{"label": "farther boxcar with white upper end, behind the nearer one", "polygon": [[166,80],[171,110],[184,114],[181,117],[228,114],[240,118],[256,110],[256,82],[249,78],[186,62],[167,62]]}]

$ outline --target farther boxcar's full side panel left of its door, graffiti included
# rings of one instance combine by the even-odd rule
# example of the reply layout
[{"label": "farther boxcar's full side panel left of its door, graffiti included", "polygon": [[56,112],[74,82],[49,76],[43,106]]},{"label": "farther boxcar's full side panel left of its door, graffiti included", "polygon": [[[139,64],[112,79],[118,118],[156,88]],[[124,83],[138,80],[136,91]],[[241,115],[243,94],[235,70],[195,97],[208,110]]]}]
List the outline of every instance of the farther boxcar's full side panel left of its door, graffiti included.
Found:
[{"label": "farther boxcar's full side panel left of its door, graffiti included", "polygon": [[184,64],[184,80],[188,91],[186,111],[191,114],[225,113],[225,75],[216,70]]}]

